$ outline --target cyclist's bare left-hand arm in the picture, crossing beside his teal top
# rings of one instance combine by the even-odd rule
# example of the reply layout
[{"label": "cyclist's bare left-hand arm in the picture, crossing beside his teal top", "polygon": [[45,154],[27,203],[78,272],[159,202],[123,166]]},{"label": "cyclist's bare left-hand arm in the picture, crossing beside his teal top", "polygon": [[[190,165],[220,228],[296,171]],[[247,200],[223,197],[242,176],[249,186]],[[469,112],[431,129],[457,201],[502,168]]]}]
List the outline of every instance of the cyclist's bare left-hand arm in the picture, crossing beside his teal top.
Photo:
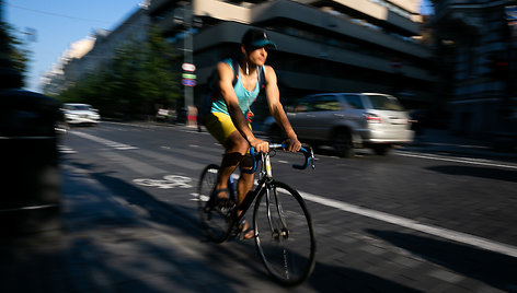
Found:
[{"label": "cyclist's bare left-hand arm in the picture, crossing beside his teal top", "polygon": [[239,106],[239,99],[237,98],[235,91],[233,90],[233,70],[225,62],[217,65],[217,72],[219,74],[219,89],[221,91],[222,98],[228,106],[228,113],[230,114],[231,120],[235,126],[237,130],[244,137],[251,146],[255,148],[257,152],[267,152],[267,142],[260,140],[253,136],[248,120]]}]

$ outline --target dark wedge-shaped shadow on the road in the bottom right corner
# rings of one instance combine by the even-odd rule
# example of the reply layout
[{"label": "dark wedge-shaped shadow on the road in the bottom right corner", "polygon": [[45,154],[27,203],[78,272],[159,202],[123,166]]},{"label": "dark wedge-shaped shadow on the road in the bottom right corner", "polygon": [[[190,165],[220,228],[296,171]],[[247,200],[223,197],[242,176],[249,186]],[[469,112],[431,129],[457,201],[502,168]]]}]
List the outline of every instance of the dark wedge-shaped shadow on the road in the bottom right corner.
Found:
[{"label": "dark wedge-shaped shadow on the road in the bottom right corner", "polygon": [[394,231],[367,230],[415,256],[506,292],[517,292],[517,259],[458,243]]}]

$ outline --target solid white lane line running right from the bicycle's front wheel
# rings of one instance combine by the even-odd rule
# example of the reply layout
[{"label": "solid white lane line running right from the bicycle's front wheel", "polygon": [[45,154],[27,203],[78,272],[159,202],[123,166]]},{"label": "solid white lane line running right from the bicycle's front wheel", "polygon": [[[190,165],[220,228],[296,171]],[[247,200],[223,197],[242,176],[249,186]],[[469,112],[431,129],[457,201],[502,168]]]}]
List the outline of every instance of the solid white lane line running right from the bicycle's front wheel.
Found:
[{"label": "solid white lane line running right from the bicycle's front wheel", "polygon": [[496,251],[496,253],[504,254],[512,257],[517,257],[517,247],[509,244],[502,244],[502,243],[493,242],[483,237],[470,235],[467,233],[423,224],[411,219],[361,208],[358,206],[354,206],[351,203],[346,203],[346,202],[342,202],[342,201],[337,201],[333,199],[322,198],[322,197],[314,196],[308,192],[301,192],[301,191],[299,192],[303,197],[303,199],[312,201],[312,202],[317,202],[326,207],[335,208],[345,212],[351,212],[351,213],[368,216],[368,218],[376,219],[376,220],[387,222],[387,223],[391,223],[394,225],[409,227],[409,228],[420,231],[426,234],[430,234],[430,235],[446,238],[449,241],[468,244],[468,245],[483,248],[486,250]]}]

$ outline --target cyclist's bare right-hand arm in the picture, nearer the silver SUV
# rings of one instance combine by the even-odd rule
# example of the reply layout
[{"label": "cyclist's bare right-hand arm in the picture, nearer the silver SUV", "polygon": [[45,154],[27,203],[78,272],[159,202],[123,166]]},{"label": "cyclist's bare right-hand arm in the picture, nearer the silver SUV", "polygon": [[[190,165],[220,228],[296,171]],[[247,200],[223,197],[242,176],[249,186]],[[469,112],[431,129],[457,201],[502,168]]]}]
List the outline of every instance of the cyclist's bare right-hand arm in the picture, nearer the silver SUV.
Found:
[{"label": "cyclist's bare right-hand arm in the picture, nearer the silver SUV", "polygon": [[289,119],[284,110],[284,106],[280,103],[280,92],[278,91],[276,73],[272,67],[266,66],[266,97],[267,105],[269,106],[269,113],[275,118],[275,121],[284,129],[287,136],[285,143],[289,152],[297,152],[301,148],[301,143],[298,141],[295,130],[292,129]]}]

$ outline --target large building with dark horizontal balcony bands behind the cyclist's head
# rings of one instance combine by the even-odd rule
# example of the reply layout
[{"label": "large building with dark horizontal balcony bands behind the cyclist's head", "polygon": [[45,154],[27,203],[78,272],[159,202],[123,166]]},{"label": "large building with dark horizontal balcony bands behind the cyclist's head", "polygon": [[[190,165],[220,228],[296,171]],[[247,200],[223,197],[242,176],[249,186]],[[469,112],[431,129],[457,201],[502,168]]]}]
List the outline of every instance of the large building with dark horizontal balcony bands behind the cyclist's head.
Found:
[{"label": "large building with dark horizontal balcony bands behind the cyclist's head", "polygon": [[278,46],[267,63],[285,103],[317,92],[391,93],[407,108],[434,98],[433,50],[421,42],[417,0],[152,0],[148,12],[180,49],[189,50],[183,36],[193,33],[195,101],[250,26],[265,28]]}]

